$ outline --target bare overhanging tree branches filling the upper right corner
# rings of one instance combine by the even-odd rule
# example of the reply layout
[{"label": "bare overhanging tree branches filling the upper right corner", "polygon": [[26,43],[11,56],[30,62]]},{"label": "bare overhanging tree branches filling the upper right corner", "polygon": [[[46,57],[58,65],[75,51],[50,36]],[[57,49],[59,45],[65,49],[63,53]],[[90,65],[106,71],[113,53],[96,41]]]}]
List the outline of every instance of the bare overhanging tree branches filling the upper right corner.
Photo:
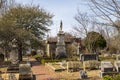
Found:
[{"label": "bare overhanging tree branches filling the upper right corner", "polygon": [[89,0],[91,10],[104,20],[105,24],[117,28],[120,33],[120,0]]}]

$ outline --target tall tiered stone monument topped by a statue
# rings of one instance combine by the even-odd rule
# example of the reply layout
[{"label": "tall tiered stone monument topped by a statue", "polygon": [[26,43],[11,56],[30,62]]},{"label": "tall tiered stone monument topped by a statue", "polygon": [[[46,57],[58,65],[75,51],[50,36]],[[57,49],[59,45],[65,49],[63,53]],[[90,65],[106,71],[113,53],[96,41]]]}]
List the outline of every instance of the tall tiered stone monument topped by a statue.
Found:
[{"label": "tall tiered stone monument topped by a statue", "polygon": [[65,41],[64,41],[64,32],[62,31],[62,21],[60,22],[59,33],[57,34],[57,44],[56,44],[56,58],[66,58],[66,49],[65,49]]}]

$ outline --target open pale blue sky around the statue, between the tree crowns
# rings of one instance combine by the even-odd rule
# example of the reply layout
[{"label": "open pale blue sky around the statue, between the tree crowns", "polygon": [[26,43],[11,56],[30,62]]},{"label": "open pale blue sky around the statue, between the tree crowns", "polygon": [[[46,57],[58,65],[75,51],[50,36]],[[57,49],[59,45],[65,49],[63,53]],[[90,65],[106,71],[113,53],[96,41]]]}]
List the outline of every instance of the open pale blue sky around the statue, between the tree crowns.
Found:
[{"label": "open pale blue sky around the statue, between the tree crowns", "polygon": [[60,21],[63,21],[63,31],[70,32],[73,25],[76,24],[74,16],[77,14],[77,9],[87,11],[87,7],[82,5],[81,0],[16,0],[21,4],[40,5],[48,12],[54,14],[53,25],[51,25],[50,36],[56,36]]}]

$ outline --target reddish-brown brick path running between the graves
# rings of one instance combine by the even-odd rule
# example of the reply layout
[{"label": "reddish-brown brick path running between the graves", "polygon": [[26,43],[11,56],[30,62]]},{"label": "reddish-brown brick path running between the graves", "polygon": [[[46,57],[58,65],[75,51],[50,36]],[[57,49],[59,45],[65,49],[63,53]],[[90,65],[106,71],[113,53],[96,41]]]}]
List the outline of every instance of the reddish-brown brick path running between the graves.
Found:
[{"label": "reddish-brown brick path running between the graves", "polygon": [[58,80],[55,72],[51,71],[48,67],[37,62],[33,62],[32,65],[32,71],[36,75],[36,80]]}]

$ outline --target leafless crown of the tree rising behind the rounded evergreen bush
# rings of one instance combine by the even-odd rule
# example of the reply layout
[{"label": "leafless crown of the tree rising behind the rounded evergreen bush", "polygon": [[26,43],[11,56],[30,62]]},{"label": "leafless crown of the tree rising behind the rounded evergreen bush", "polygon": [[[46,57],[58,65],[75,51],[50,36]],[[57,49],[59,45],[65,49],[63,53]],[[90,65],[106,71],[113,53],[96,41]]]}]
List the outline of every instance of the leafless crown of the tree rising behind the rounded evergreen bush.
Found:
[{"label": "leafless crown of the tree rising behind the rounded evergreen bush", "polygon": [[78,14],[74,17],[75,20],[78,22],[78,25],[73,27],[74,31],[80,37],[86,37],[90,27],[89,27],[89,17],[87,13],[81,13],[78,10]]}]

